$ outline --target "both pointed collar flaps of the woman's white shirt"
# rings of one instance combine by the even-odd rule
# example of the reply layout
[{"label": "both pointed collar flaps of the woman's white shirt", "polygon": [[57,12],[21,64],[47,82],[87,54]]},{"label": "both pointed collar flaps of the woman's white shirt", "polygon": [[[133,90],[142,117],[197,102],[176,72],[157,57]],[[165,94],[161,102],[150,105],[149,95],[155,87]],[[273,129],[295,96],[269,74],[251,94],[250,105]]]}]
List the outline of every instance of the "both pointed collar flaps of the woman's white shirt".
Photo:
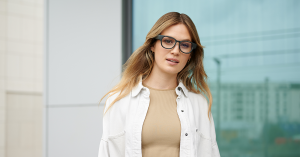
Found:
[{"label": "both pointed collar flaps of the woman's white shirt", "polygon": [[[142,79],[140,79],[140,82],[138,83],[138,85],[136,85],[135,87],[133,87],[132,91],[131,91],[131,96],[135,97],[137,96],[142,89],[146,89],[147,87],[144,87],[142,84]],[[176,94],[180,95],[181,92],[188,97],[188,90],[186,89],[186,87],[184,86],[184,84],[182,83],[182,81],[180,80],[178,86],[175,88]]]}]

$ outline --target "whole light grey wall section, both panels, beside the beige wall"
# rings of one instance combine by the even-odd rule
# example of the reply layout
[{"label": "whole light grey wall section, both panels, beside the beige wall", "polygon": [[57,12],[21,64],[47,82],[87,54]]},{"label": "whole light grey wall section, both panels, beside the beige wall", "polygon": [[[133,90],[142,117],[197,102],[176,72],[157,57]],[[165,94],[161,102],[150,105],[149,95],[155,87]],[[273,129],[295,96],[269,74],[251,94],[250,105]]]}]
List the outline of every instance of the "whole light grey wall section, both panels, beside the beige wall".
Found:
[{"label": "whole light grey wall section, both panels, beside the beige wall", "polygon": [[44,157],[97,156],[103,103],[121,76],[121,0],[45,2]]}]

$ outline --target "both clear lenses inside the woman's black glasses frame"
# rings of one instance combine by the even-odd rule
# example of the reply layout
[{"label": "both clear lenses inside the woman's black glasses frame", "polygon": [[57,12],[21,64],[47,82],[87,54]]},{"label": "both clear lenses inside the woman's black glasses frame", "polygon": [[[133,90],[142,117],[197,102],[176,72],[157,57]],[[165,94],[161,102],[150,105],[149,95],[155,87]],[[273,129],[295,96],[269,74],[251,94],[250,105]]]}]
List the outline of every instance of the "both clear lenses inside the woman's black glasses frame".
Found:
[{"label": "both clear lenses inside the woman's black glasses frame", "polygon": [[[163,37],[161,43],[164,48],[169,49],[174,47],[174,45],[176,44],[176,40],[170,37]],[[179,48],[182,52],[189,53],[192,50],[192,43],[181,41],[179,44]]]}]

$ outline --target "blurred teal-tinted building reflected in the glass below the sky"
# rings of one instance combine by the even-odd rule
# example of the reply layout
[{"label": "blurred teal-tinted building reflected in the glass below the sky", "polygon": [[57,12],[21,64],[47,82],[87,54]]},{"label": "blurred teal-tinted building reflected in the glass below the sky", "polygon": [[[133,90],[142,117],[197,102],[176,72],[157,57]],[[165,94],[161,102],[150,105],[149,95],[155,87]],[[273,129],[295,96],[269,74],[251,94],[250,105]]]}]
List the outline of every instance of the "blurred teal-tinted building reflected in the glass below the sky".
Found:
[{"label": "blurred teal-tinted building reflected in the glass below the sky", "polygon": [[[216,97],[216,84],[210,84],[210,88]],[[212,112],[215,121],[220,120],[224,138],[258,139],[266,124],[300,123],[300,84],[222,83],[220,93],[221,117],[216,114],[216,99]]]}]

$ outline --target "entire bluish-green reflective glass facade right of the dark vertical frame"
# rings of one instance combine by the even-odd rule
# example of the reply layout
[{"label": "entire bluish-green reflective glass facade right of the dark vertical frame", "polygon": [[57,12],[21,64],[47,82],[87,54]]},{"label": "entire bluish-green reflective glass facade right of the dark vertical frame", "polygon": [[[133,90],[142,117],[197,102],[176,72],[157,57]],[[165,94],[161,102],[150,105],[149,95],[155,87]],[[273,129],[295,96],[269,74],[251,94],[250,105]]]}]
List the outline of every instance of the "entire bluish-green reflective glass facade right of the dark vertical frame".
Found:
[{"label": "entire bluish-green reflective glass facade right of the dark vertical frame", "polygon": [[132,47],[185,13],[204,49],[223,157],[300,156],[300,1],[134,0]]}]

